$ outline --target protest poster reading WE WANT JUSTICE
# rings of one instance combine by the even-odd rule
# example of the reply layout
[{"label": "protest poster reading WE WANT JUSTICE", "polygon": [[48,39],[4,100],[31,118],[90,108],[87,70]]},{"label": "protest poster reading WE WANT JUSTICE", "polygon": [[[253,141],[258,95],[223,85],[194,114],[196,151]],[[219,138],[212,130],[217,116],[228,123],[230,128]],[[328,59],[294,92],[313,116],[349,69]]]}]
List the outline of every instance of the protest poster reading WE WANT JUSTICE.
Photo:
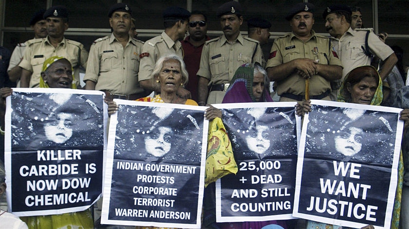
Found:
[{"label": "protest poster reading WE WANT JUSTICE", "polygon": [[400,111],[312,100],[298,150],[293,215],[351,228],[390,228]]}]

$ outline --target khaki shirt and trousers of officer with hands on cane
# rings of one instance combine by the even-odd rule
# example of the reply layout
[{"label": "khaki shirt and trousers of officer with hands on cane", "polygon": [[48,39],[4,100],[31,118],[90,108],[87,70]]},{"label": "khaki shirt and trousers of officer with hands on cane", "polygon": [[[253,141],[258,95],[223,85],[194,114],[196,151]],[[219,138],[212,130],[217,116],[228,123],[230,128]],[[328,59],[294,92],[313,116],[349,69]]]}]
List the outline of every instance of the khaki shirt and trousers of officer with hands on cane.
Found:
[{"label": "khaki shirt and trousers of officer with hands on cane", "polygon": [[[267,68],[278,66],[299,58],[318,60],[319,64],[339,65],[341,61],[337,57],[335,49],[329,37],[317,35],[311,31],[312,36],[306,42],[299,39],[294,33],[289,33],[274,41],[270,56],[267,61]],[[302,100],[305,96],[305,79],[296,72],[292,73],[282,81],[277,81],[277,94],[282,96],[280,101]],[[314,75],[310,79],[310,97],[316,99],[330,100],[330,81],[320,76]],[[284,96],[299,97],[301,99],[290,99]],[[323,97],[323,98],[320,98]]]}]

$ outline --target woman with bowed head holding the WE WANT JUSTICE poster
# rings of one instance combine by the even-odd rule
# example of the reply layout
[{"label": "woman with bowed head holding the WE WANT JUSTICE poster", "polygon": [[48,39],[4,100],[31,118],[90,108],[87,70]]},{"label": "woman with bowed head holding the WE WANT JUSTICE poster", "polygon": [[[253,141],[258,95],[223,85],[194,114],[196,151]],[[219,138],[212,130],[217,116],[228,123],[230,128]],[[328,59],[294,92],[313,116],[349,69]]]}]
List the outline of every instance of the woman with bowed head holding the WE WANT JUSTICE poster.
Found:
[{"label": "woman with bowed head holding the WE WANT JUSTICE poster", "polygon": [[[373,66],[359,66],[349,72],[339,90],[338,101],[350,102],[357,104],[375,105],[379,106],[382,102],[382,80],[379,73]],[[311,101],[303,101],[302,105],[296,105],[297,115],[303,115],[305,112],[311,112]],[[400,119],[405,121],[405,129],[409,125],[409,109],[405,109],[400,113]],[[399,158],[398,166],[398,186],[395,195],[395,204],[393,206],[391,229],[397,229],[399,226],[400,216],[400,202],[402,195],[402,181],[403,181],[403,162],[402,154]],[[345,229],[341,226],[326,225],[324,223],[318,223],[308,221],[307,228],[325,229],[327,227],[333,227],[334,229]],[[367,226],[369,227],[369,226]]]}]

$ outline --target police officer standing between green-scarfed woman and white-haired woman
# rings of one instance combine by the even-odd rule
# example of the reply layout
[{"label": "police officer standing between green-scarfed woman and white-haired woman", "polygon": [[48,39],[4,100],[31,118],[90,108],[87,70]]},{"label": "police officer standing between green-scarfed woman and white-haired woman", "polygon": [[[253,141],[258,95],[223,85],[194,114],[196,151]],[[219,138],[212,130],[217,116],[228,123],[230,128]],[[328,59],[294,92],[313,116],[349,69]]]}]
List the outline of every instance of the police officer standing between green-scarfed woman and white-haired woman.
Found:
[{"label": "police officer standing between green-scarfed woman and white-haired woman", "polygon": [[112,33],[93,42],[85,72],[85,89],[104,91],[108,99],[145,97],[139,87],[139,54],[143,42],[129,35],[132,11],[117,3],[108,12]]}]

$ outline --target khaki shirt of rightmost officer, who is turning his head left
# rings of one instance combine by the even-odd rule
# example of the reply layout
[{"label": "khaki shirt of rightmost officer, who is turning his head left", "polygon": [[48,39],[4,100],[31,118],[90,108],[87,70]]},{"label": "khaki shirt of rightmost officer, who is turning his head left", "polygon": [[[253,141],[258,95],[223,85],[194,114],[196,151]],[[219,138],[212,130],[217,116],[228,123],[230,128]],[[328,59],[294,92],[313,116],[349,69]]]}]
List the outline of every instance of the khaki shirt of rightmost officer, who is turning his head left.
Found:
[{"label": "khaki shirt of rightmost officer, who is turning his head left", "polygon": [[355,29],[351,27],[346,33],[344,33],[338,41],[338,55],[341,59],[344,69],[342,70],[342,80],[345,76],[354,68],[371,65],[371,57],[365,54],[365,37],[367,31],[370,31],[368,36],[368,46],[372,54],[377,56],[381,60],[385,60],[392,53],[393,50],[379,40],[375,33],[372,33],[372,29]]}]

